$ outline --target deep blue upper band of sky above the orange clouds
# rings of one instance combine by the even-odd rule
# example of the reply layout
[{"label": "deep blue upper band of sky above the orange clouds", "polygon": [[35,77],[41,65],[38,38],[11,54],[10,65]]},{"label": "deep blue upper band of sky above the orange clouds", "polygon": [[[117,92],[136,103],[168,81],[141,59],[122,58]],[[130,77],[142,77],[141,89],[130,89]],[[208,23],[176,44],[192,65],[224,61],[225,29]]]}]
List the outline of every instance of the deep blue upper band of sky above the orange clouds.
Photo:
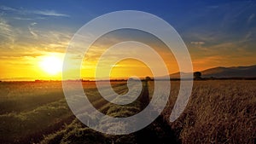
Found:
[{"label": "deep blue upper band of sky above the orange clouds", "polygon": [[[216,32],[241,35],[255,27],[253,1],[3,1],[1,13],[20,25],[19,19],[40,22],[45,28],[69,27],[75,32],[89,20],[117,10],[142,10],[160,16],[177,32]],[[41,20],[41,19],[42,20]],[[14,20],[12,20],[14,19]],[[31,22],[27,21],[27,22]],[[55,26],[52,26],[55,25]],[[57,26],[56,26],[57,25]],[[183,36],[186,37],[186,36]],[[234,36],[236,37],[236,36]]]}]

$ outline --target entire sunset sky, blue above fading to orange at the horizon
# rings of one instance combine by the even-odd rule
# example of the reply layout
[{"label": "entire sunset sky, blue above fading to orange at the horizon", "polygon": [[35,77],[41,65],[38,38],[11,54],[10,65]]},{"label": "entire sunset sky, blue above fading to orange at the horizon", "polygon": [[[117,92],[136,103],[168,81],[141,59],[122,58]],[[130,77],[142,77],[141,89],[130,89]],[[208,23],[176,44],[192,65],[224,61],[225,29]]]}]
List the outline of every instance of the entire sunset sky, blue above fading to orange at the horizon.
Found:
[{"label": "entire sunset sky, blue above fading to orange at the horizon", "polygon": [[[183,38],[189,49],[194,71],[215,66],[255,65],[255,9],[255,1],[244,0],[0,0],[0,80],[61,78],[61,72],[48,72],[47,69],[55,69],[56,66],[47,66],[51,62],[44,61],[54,60],[49,57],[62,60],[73,34],[81,26],[102,14],[118,10],[144,11],[166,20]],[[139,34],[140,32],[133,35],[131,33],[113,35],[122,39],[138,34],[143,39],[150,39],[146,34]],[[178,72],[172,54],[165,55],[160,47],[162,46],[156,49],[166,59],[167,65],[172,64],[169,72]],[[103,50],[105,47],[98,49]],[[88,55],[96,57],[96,50],[92,48],[90,51]],[[91,57],[93,56],[84,59],[81,70],[83,78],[94,77],[96,58]],[[136,60],[120,61],[119,65],[114,65],[113,77],[122,77],[122,74],[139,77],[150,75],[149,69],[144,65]],[[135,71],[139,68],[140,71]]]}]

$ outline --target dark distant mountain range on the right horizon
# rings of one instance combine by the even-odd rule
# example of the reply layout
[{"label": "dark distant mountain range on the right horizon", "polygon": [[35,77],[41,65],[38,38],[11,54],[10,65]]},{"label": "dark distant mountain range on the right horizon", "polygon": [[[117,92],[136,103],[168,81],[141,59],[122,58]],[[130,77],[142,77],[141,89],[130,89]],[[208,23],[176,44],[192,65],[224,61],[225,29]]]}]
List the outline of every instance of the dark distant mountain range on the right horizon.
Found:
[{"label": "dark distant mountain range on the right horizon", "polygon": [[[189,73],[183,72],[184,76]],[[179,78],[180,72],[172,73],[170,78]],[[202,78],[256,78],[256,65],[254,66],[232,66],[213,67],[201,71]]]}]

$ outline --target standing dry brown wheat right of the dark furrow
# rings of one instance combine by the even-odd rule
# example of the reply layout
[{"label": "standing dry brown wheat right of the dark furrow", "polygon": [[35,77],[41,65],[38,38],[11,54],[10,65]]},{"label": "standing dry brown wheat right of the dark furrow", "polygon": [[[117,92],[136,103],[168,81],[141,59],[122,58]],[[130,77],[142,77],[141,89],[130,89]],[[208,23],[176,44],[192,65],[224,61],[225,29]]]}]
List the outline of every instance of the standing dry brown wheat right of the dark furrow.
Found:
[{"label": "standing dry brown wheat right of the dark furrow", "polygon": [[[179,82],[172,82],[169,118]],[[171,124],[182,143],[254,143],[256,81],[195,81],[189,103]]]}]

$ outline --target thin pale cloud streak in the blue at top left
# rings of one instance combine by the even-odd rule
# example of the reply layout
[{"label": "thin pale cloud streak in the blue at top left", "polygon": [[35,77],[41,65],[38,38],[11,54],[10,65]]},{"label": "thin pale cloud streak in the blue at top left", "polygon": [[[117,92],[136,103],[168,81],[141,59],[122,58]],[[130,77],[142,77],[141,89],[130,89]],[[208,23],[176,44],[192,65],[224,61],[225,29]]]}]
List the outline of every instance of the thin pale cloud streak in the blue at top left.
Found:
[{"label": "thin pale cloud streak in the blue at top left", "polygon": [[[4,11],[12,11],[18,14],[38,14],[38,15],[43,15],[43,16],[57,16],[57,17],[69,17],[68,14],[62,14],[62,13],[58,13],[55,10],[49,10],[49,9],[39,9],[39,10],[29,10],[29,9],[15,9],[15,8],[11,8],[8,6],[0,6],[0,9],[4,10]],[[19,19],[19,18],[18,18]],[[24,20],[22,18],[20,18],[20,20]]]}]

